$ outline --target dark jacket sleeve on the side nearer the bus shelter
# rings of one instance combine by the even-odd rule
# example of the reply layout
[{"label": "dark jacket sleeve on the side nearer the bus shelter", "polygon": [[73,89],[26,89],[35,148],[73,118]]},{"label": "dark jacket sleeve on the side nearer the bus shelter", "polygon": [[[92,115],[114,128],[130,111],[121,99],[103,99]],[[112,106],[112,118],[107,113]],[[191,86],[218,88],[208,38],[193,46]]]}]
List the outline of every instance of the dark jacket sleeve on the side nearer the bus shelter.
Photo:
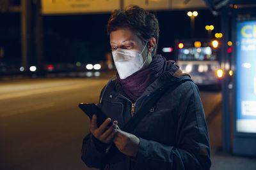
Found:
[{"label": "dark jacket sleeve on the side nearer the bus shelter", "polygon": [[210,169],[204,108],[196,85],[192,82],[187,85],[190,90],[182,97],[178,109],[176,145],[168,146],[140,138],[135,169]]}]

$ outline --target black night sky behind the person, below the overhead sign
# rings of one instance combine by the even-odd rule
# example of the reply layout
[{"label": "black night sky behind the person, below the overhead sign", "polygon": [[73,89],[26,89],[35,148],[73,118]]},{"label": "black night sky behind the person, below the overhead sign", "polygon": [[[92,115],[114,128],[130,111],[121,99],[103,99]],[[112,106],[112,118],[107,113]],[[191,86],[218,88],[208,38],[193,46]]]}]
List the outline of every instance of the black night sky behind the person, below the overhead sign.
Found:
[{"label": "black night sky behind the person, below the overhead sign", "polygon": [[[186,11],[154,11],[159,20],[160,36],[157,53],[172,59],[174,53],[163,53],[166,46],[174,47],[175,39],[191,38],[190,18]],[[106,25],[110,14],[58,15],[44,17],[44,62],[97,62],[110,51]],[[4,57],[0,61],[19,62],[20,14],[0,13],[0,47]],[[205,25],[214,25],[212,37],[220,32],[220,17],[210,10],[198,10],[195,18],[195,38],[207,38]]]}]

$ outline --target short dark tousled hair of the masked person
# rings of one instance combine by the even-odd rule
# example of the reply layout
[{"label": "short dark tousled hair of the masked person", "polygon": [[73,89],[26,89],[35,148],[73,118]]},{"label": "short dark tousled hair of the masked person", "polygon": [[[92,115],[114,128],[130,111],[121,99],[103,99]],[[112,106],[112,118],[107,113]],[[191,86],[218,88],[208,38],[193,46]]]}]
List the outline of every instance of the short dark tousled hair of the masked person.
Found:
[{"label": "short dark tousled hair of the masked person", "polygon": [[124,10],[115,10],[108,21],[108,35],[121,28],[131,29],[142,41],[156,38],[156,46],[153,51],[153,54],[156,54],[159,25],[155,15],[140,6],[127,6]]}]

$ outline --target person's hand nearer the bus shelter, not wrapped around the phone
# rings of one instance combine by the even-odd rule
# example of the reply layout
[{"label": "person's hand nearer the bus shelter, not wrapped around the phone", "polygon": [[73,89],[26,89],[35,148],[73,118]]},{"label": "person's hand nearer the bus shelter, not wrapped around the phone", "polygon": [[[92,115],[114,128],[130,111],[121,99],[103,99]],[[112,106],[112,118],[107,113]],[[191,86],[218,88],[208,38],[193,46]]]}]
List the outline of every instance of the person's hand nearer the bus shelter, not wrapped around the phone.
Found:
[{"label": "person's hand nearer the bus shelter, not wrapped around the phone", "polygon": [[136,157],[140,148],[140,139],[135,135],[121,131],[118,128],[113,141],[120,152],[128,156]]}]

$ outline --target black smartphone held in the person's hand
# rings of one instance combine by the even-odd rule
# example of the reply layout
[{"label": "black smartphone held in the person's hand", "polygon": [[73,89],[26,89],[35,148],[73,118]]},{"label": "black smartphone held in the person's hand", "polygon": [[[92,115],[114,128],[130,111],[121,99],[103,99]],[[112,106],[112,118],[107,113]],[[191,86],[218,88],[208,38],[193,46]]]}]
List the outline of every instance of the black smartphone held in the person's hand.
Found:
[{"label": "black smartphone held in the person's hand", "polygon": [[[95,114],[97,116],[97,125],[98,125],[98,127],[106,120],[106,118],[108,118],[106,116],[106,114],[103,113],[103,111],[101,111],[99,106],[97,106],[97,104],[95,104],[95,103],[79,103],[78,106],[91,119],[92,119],[92,115]],[[113,122],[111,120],[111,122],[108,124],[108,126],[111,126],[112,124],[113,124]]]}]

